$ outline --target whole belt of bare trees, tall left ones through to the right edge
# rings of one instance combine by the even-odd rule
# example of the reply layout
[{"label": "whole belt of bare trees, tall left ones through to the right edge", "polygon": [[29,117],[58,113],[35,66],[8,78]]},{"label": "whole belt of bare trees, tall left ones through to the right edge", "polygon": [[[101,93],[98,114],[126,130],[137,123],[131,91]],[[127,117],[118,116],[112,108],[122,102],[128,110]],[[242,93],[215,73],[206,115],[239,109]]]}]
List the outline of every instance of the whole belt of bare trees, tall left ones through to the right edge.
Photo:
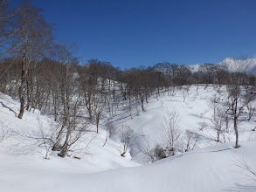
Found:
[{"label": "whole belt of bare trees, tall left ones through to the right edge", "polygon": [[[172,94],[176,88],[192,84],[245,86],[253,92],[255,76],[239,70],[229,72],[225,65],[200,65],[191,72],[189,65],[159,63],[154,66],[121,71],[109,62],[97,59],[80,65],[76,46],[56,42],[52,26],[45,22],[42,11],[23,3],[17,10],[0,1],[0,92],[19,99],[24,111],[38,109],[61,122],[52,150],[66,156],[68,148],[80,138],[77,116],[84,107],[88,120],[96,123],[97,132],[103,111],[114,113],[127,100],[129,111],[134,102],[145,111],[149,97]],[[241,61],[242,59],[240,59]],[[248,63],[244,59],[243,67]]]}]

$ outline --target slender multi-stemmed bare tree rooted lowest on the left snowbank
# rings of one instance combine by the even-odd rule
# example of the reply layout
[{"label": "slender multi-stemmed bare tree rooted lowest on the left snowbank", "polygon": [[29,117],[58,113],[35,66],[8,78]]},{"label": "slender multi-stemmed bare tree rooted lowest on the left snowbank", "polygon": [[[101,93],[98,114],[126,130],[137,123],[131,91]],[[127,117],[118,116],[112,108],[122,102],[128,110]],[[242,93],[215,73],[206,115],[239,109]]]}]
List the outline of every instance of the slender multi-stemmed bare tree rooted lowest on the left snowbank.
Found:
[{"label": "slender multi-stemmed bare tree rooted lowest on the left snowbank", "polygon": [[[73,45],[61,44],[56,45],[55,59],[58,61],[60,65],[60,98],[63,106],[63,114],[62,114],[62,127],[59,130],[59,134],[56,138],[56,142],[52,147],[52,150],[59,150],[60,147],[60,138],[62,134],[66,131],[66,141],[64,146],[61,147],[63,149],[61,155],[66,156],[66,152],[68,149],[69,138],[72,133],[72,120],[71,115],[77,115],[77,107],[80,104],[80,92],[78,91],[79,87],[77,85],[77,79],[75,78],[75,71],[72,71],[74,68],[71,67],[75,65],[76,59],[73,57]],[[73,108],[72,108],[73,107]],[[71,113],[73,110],[73,114]],[[76,118],[76,117],[75,117]]]}]

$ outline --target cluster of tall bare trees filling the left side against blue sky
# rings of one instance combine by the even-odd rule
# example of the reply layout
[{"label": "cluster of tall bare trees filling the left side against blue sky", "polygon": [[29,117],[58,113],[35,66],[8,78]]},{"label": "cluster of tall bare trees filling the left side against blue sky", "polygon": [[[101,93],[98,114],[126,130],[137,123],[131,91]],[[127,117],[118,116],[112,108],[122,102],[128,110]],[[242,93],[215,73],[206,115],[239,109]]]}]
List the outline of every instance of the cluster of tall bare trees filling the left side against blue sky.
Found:
[{"label": "cluster of tall bare trees filling the left side against blue sky", "polygon": [[59,150],[59,155],[65,157],[88,127],[87,122],[80,122],[83,99],[77,86],[74,46],[53,42],[52,26],[31,3],[24,2],[17,10],[11,10],[8,3],[0,3],[1,91],[13,98],[18,95],[19,119],[25,110],[54,114],[61,127],[52,139],[52,150]]}]

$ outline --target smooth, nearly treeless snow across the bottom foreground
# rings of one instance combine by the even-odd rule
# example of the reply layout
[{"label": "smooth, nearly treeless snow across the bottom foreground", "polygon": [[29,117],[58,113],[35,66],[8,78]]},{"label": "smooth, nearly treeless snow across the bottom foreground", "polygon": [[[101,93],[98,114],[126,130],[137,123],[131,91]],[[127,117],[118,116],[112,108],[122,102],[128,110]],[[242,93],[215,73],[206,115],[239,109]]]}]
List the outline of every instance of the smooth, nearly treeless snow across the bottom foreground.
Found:
[{"label": "smooth, nearly treeless snow across the bottom foreground", "polygon": [[21,160],[1,155],[1,191],[216,192],[255,191],[238,168],[239,158],[253,165],[255,142],[195,150],[149,166],[87,174],[86,167],[66,159]]}]

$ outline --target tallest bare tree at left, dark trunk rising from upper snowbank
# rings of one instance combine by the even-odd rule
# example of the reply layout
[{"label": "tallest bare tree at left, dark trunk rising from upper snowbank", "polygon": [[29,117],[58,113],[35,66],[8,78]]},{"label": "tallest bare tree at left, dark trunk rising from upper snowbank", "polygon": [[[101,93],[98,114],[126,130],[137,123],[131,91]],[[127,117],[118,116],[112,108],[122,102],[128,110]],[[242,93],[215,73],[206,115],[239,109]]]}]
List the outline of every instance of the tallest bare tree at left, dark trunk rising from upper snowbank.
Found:
[{"label": "tallest bare tree at left, dark trunk rising from upper snowbank", "polygon": [[[22,119],[24,109],[31,104],[33,94],[33,72],[45,51],[48,51],[52,42],[52,27],[49,26],[40,15],[40,10],[24,3],[17,14],[20,37],[20,53],[22,55],[21,84],[19,86],[20,113],[18,118]],[[28,99],[25,105],[25,99]]]}]

